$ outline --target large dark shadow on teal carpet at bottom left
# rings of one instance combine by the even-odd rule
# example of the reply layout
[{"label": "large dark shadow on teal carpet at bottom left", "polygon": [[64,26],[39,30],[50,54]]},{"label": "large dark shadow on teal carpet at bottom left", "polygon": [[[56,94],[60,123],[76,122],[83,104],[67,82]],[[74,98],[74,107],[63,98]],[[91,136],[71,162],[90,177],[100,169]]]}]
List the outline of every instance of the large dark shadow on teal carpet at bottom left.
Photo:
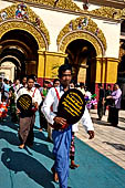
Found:
[{"label": "large dark shadow on teal carpet at bottom left", "polygon": [[52,174],[35,158],[21,152],[13,152],[10,148],[2,148],[2,152],[1,161],[8,169],[14,171],[14,174],[23,171],[42,187],[54,188]]}]

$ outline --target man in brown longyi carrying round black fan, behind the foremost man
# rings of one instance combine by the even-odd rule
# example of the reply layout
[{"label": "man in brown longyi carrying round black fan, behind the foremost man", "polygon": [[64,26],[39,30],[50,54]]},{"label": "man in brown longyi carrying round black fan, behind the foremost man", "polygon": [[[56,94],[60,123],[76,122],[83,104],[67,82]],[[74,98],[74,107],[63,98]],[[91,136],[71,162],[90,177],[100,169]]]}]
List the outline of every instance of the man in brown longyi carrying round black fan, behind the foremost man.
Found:
[{"label": "man in brown longyi carrying round black fan, behind the foremost man", "polygon": [[35,121],[35,111],[38,111],[39,105],[42,101],[40,91],[37,87],[33,87],[34,79],[32,76],[28,77],[27,87],[22,87],[18,92],[17,107],[18,113],[20,114],[20,128],[19,128],[19,138],[20,146],[19,148],[24,148],[25,145],[33,145],[33,126]]}]

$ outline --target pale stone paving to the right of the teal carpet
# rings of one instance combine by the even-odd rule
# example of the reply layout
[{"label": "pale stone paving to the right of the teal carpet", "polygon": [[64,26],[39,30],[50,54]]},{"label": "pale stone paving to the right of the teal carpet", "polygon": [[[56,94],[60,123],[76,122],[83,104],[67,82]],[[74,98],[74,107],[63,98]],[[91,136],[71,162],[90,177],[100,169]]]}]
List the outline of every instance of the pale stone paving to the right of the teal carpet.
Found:
[{"label": "pale stone paving to the right of the teal carpet", "polygon": [[76,136],[88,146],[103,154],[125,169],[125,111],[119,112],[117,127],[110,126],[107,113],[102,121],[97,121],[96,109],[91,109],[91,116],[95,127],[95,138],[90,140],[88,136],[80,124]]}]

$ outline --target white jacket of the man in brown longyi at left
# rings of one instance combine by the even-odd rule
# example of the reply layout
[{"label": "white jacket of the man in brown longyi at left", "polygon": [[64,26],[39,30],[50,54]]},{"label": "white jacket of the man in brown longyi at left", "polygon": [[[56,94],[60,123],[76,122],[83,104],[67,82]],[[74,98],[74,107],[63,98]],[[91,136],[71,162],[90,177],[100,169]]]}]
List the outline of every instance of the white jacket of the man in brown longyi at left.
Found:
[{"label": "white jacket of the man in brown longyi at left", "polygon": [[20,88],[17,95],[17,100],[23,94],[29,94],[32,97],[32,103],[38,103],[38,105],[40,105],[40,103],[42,102],[40,91],[35,87],[32,87],[30,91],[28,90],[28,87]]}]

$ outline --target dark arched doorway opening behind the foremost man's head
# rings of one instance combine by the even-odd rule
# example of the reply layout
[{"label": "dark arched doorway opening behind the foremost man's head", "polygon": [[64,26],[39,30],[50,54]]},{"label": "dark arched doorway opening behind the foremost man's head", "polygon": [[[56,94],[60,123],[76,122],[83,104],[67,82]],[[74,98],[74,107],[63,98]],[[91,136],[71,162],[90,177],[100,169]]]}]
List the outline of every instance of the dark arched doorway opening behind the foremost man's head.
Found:
[{"label": "dark arched doorway opening behind the foremost man's head", "polygon": [[96,74],[96,51],[94,46],[85,40],[72,41],[65,53],[73,66],[73,80],[85,83],[93,91]]}]

